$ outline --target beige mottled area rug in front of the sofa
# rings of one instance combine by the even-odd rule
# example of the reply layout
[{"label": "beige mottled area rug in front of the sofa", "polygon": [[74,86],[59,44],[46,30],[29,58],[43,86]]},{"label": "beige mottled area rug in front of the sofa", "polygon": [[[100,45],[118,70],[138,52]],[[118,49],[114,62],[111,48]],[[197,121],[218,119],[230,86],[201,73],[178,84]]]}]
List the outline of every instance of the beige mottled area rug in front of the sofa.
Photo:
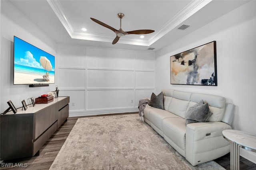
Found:
[{"label": "beige mottled area rug in front of the sofa", "polygon": [[51,170],[223,170],[214,161],[192,166],[138,114],[77,120]]}]

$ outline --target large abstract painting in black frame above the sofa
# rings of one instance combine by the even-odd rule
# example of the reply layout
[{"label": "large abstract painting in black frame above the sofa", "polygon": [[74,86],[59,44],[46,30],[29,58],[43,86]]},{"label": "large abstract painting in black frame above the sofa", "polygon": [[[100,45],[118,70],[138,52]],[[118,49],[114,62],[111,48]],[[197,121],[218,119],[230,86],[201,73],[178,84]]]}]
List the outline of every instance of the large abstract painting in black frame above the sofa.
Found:
[{"label": "large abstract painting in black frame above the sofa", "polygon": [[216,41],[170,57],[171,84],[217,86]]}]

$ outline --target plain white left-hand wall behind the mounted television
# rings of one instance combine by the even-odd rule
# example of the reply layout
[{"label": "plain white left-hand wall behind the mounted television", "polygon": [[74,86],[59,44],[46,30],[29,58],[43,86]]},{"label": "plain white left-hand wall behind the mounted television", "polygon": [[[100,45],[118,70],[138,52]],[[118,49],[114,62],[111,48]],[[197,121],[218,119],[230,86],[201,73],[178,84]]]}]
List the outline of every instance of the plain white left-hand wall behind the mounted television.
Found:
[{"label": "plain white left-hand wall behind the mounted television", "polygon": [[55,89],[49,87],[29,88],[28,85],[13,85],[13,36],[17,36],[36,47],[56,55],[56,43],[48,38],[39,27],[19,12],[9,1],[1,1],[1,58],[0,58],[0,112],[8,108],[12,100],[16,108],[22,107],[22,100],[37,98]]}]

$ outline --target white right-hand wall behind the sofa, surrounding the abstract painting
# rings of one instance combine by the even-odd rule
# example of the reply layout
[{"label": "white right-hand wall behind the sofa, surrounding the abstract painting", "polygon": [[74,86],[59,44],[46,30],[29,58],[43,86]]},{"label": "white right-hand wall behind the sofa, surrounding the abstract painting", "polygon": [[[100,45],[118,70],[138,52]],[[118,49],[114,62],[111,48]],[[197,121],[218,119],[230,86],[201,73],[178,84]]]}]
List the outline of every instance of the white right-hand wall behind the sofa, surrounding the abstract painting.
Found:
[{"label": "white right-hand wall behind the sofa, surrounding the abstract painting", "polygon": [[[224,96],[236,105],[232,127],[256,134],[255,7],[256,1],[250,1],[158,51],[156,93],[167,88]],[[211,41],[216,41],[218,86],[171,85],[170,56]],[[250,160],[256,162],[256,156]]]}]

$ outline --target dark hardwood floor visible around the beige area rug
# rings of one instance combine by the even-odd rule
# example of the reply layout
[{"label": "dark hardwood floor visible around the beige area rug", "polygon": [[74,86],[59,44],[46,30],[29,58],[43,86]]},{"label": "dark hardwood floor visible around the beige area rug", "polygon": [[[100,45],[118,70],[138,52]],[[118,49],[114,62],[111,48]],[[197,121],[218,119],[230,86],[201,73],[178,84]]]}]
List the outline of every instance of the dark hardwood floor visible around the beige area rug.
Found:
[{"label": "dark hardwood floor visible around the beige area rug", "polygon": [[[118,113],[118,114],[137,114],[132,113]],[[106,115],[94,115],[94,116],[82,116],[82,117],[96,117]],[[52,137],[44,144],[40,149],[38,156],[29,158],[22,158],[16,160],[4,161],[0,164],[0,169],[14,169],[14,170],[48,170],[52,165],[52,162],[56,158],[59,150],[66,141],[70,131],[76,124],[78,118],[81,117],[68,117],[68,121],[64,122],[60,128],[52,135]],[[230,157],[229,154],[222,156],[215,160],[218,164],[223,166],[226,170],[230,169]],[[6,165],[6,166],[4,166]],[[23,167],[20,167],[23,166]],[[256,170],[256,164],[240,157],[240,170]]]}]

